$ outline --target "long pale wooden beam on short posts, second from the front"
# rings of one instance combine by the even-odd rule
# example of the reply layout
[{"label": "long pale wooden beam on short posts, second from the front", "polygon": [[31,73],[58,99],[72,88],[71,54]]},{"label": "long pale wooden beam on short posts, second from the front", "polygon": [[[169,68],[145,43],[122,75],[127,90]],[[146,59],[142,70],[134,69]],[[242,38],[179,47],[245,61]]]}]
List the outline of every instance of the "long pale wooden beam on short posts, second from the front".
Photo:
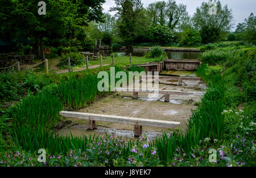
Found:
[{"label": "long pale wooden beam on short posts, second from the front", "polygon": [[171,90],[153,90],[153,89],[142,89],[142,88],[114,88],[115,91],[130,91],[133,92],[133,99],[138,99],[138,92],[146,93],[158,93],[164,94],[164,102],[170,101],[170,95],[193,95],[192,92],[185,91],[171,91]]}]

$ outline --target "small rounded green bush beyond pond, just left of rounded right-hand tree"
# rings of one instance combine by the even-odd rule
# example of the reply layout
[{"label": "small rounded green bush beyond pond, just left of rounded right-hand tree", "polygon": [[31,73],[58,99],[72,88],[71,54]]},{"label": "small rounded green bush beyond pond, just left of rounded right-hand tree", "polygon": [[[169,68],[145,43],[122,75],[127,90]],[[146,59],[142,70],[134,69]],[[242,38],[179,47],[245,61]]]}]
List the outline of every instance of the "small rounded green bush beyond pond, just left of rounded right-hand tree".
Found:
[{"label": "small rounded green bush beyond pond, just left of rounded right-hand tree", "polygon": [[201,43],[200,33],[193,28],[186,29],[181,35],[181,44],[193,46]]}]

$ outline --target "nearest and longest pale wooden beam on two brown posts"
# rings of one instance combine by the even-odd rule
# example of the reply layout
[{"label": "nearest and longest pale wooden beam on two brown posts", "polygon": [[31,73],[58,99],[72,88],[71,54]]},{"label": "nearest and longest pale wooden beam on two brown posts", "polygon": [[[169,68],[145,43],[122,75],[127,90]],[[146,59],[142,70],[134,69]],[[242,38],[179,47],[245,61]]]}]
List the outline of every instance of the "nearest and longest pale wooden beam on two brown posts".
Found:
[{"label": "nearest and longest pale wooden beam on two brown posts", "polygon": [[95,124],[96,121],[134,125],[134,137],[139,137],[142,134],[142,126],[151,126],[151,127],[168,128],[168,129],[177,128],[180,126],[180,122],[152,120],[147,118],[98,115],[98,114],[91,114],[91,113],[69,112],[69,111],[61,111],[60,115],[67,118],[77,118],[82,120],[88,120],[89,130],[96,129],[96,124]]}]

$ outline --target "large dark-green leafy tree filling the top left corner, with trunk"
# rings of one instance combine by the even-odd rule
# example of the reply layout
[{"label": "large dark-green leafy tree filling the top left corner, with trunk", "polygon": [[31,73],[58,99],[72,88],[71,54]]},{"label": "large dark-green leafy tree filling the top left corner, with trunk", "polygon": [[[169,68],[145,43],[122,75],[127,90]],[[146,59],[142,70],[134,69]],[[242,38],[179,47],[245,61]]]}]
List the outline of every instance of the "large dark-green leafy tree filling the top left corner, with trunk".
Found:
[{"label": "large dark-green leafy tree filling the top left corner, with trunk", "polygon": [[[90,20],[101,20],[100,5],[103,2],[105,0],[47,0],[46,15],[39,15],[36,0],[2,0],[1,32],[9,33],[11,37],[30,38],[40,44],[40,55],[45,61],[43,40],[56,36],[66,36],[68,39]],[[90,10],[90,7],[96,10]]]}]

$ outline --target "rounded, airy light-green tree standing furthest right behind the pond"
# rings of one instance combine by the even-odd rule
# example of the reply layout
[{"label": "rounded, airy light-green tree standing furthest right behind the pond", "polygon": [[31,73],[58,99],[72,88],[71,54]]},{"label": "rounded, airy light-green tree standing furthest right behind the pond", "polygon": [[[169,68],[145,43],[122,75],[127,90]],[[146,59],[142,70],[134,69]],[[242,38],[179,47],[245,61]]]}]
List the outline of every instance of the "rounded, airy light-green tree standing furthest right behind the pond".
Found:
[{"label": "rounded, airy light-green tree standing furthest right behind the pond", "polygon": [[[210,14],[212,8],[210,2],[216,3],[216,14]],[[233,24],[232,10],[225,5],[222,7],[218,0],[203,2],[197,7],[196,13],[193,15],[193,24],[200,31],[203,43],[212,43],[220,38],[221,32],[229,31]]]}]

